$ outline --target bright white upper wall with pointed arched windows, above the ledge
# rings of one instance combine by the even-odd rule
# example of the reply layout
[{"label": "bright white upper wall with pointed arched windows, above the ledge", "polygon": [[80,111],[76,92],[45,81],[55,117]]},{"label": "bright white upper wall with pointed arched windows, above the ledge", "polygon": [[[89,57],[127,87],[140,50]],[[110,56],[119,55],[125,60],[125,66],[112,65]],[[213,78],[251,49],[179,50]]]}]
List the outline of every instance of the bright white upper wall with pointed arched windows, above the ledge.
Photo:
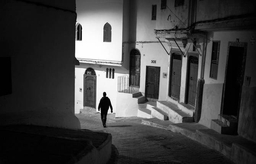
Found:
[{"label": "bright white upper wall with pointed arched windows, above the ledge", "polygon": [[[82,41],[76,41],[76,58],[122,60],[123,0],[76,0]],[[111,42],[103,42],[103,27],[112,27]]]}]

